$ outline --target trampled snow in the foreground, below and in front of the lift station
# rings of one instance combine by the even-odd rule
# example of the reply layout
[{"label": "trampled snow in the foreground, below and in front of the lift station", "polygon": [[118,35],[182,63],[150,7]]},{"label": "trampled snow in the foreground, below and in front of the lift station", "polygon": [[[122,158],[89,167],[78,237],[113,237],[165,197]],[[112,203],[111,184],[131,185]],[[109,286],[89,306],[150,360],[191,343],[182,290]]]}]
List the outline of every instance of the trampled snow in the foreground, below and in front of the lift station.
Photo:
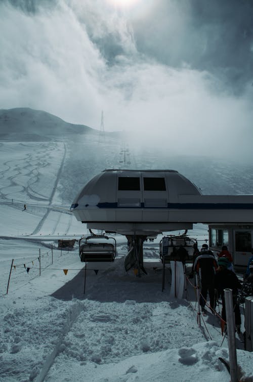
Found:
[{"label": "trampled snow in the foreground, below and in front of the lift station", "polygon": [[[85,294],[77,248],[53,249],[52,264],[52,251],[43,243],[1,240],[6,253],[1,257],[1,380],[230,380],[219,361],[228,359],[219,320],[209,313],[203,318],[212,341],[203,322],[199,328],[189,302],[170,298],[168,271],[161,292],[157,246],[145,245],[148,275],[137,278],[124,271],[126,243],[117,239],[114,263],[89,264]],[[19,257],[5,294],[17,246]],[[188,300],[194,307],[190,285]],[[237,350],[237,357],[244,375],[252,378],[252,354]]]}]

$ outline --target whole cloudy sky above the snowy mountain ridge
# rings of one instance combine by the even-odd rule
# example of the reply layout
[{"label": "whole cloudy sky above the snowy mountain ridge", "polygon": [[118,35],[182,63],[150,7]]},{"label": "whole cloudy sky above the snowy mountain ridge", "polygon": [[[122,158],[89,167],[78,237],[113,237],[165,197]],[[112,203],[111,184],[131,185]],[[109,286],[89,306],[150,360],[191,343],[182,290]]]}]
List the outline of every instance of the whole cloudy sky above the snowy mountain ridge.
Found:
[{"label": "whole cloudy sky above the snowy mountain ridge", "polygon": [[243,153],[252,14],[251,0],[2,0],[0,108],[95,129],[103,110],[107,131]]}]

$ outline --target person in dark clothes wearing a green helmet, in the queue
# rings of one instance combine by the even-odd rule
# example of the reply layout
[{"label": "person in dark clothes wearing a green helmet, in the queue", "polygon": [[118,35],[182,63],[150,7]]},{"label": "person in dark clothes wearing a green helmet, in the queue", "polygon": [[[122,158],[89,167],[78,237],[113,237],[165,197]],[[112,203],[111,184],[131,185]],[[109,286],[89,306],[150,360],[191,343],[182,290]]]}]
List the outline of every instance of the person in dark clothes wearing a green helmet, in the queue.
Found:
[{"label": "person in dark clothes wearing a green helmet, in the queue", "polygon": [[233,305],[235,313],[235,326],[238,333],[241,332],[241,314],[239,304],[237,302],[238,289],[241,289],[242,285],[237,278],[236,274],[228,269],[230,262],[226,258],[218,259],[218,269],[215,275],[215,289],[218,296],[222,297],[222,318],[226,321],[226,307],[224,298],[224,289],[232,289]]}]

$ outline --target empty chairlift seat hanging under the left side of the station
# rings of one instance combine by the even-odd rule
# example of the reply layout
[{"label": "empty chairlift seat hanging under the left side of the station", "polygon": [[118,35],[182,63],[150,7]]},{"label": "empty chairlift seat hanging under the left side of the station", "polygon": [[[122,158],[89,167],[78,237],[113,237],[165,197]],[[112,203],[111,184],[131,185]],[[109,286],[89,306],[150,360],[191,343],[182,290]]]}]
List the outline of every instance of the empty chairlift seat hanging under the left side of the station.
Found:
[{"label": "empty chairlift seat hanging under the left side of the station", "polygon": [[[109,239],[114,240],[114,244],[105,242]],[[105,235],[83,237],[79,240],[79,256],[81,262],[112,262],[116,256],[116,240]]]}]

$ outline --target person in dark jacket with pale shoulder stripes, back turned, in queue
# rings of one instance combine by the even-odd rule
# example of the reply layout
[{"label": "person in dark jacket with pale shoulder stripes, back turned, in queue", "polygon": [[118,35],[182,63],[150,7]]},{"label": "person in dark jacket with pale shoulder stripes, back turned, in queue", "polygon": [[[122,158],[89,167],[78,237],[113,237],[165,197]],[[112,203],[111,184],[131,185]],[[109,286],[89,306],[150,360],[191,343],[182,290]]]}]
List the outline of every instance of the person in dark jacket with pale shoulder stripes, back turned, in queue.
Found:
[{"label": "person in dark jacket with pale shoulder stripes, back turned, in queue", "polygon": [[214,279],[218,268],[212,251],[208,250],[208,245],[203,244],[199,256],[194,262],[194,271],[198,274],[201,283],[200,301],[202,312],[205,312],[207,292],[210,299],[210,307],[215,309],[215,287]]}]

